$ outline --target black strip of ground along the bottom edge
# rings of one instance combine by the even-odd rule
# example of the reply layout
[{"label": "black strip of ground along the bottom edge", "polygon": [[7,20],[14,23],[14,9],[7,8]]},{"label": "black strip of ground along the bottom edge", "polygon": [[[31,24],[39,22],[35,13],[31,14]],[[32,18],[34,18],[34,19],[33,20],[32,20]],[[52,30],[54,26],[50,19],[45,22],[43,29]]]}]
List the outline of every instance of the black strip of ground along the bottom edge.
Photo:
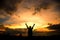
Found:
[{"label": "black strip of ground along the bottom edge", "polygon": [[[10,36],[10,35],[0,35],[0,40],[49,40],[59,38],[60,36],[32,36],[32,37],[22,37],[22,36]],[[58,40],[58,39],[57,39]]]}]

